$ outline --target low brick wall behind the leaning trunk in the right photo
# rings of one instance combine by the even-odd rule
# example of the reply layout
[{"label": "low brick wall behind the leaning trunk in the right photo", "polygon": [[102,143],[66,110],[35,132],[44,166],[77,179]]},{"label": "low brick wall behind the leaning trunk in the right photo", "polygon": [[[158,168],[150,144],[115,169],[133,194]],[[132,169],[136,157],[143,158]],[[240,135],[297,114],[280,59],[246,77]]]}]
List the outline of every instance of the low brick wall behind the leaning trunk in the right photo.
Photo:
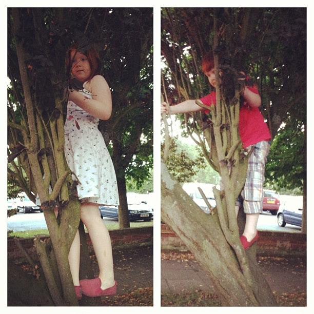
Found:
[{"label": "low brick wall behind the leaning trunk in the right photo", "polygon": [[[166,224],[161,224],[162,250],[188,251],[185,244]],[[306,234],[259,231],[257,254],[259,256],[306,257]]]}]

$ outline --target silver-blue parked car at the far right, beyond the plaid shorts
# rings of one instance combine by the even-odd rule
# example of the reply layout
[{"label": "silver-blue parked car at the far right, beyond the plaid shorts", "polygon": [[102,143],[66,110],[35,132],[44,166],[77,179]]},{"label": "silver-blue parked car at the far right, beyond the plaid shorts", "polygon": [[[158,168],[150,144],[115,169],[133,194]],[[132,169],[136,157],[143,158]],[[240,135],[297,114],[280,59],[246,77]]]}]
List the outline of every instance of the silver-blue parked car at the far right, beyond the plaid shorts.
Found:
[{"label": "silver-blue parked car at the far right, beyond the plaid shorts", "polygon": [[303,197],[290,197],[278,211],[277,221],[280,227],[286,224],[301,227],[303,213]]}]

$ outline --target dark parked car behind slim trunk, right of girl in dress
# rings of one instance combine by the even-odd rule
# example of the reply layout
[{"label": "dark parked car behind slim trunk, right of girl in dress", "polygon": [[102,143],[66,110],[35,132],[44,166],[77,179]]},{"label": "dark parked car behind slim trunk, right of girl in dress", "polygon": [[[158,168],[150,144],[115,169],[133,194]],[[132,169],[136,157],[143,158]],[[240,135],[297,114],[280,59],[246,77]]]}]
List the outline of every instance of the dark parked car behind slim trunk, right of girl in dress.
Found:
[{"label": "dark parked car behind slim trunk, right of girl in dress", "polygon": [[[141,194],[127,193],[129,220],[130,221],[150,221],[153,219],[153,209],[142,201]],[[119,219],[117,206],[99,206],[101,218]]]}]

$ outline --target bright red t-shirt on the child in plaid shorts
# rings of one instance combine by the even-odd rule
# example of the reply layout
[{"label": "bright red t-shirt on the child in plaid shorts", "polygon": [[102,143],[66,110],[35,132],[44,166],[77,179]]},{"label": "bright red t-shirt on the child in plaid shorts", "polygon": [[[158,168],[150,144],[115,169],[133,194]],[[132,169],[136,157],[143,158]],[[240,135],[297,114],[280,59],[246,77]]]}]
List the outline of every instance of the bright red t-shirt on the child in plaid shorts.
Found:
[{"label": "bright red t-shirt on the child in plaid shorts", "polygon": [[[258,90],[254,87],[247,86],[247,88],[254,93],[258,93]],[[201,98],[200,101],[206,106],[216,105],[216,93],[212,91],[207,96]],[[204,111],[206,113],[209,112],[206,109]],[[247,102],[242,103],[240,107],[239,133],[244,148],[271,139],[269,128],[260,109],[249,106]]]}]

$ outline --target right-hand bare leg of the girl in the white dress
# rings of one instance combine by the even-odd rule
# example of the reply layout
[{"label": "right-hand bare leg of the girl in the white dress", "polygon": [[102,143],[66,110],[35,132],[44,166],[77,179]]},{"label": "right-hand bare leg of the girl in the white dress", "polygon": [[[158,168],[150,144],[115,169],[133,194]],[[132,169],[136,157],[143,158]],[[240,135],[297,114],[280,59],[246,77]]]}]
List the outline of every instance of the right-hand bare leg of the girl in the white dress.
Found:
[{"label": "right-hand bare leg of the girl in the white dress", "polygon": [[108,229],[100,217],[99,205],[85,202],[81,205],[81,219],[91,239],[97,262],[101,289],[114,285],[112,247]]}]

